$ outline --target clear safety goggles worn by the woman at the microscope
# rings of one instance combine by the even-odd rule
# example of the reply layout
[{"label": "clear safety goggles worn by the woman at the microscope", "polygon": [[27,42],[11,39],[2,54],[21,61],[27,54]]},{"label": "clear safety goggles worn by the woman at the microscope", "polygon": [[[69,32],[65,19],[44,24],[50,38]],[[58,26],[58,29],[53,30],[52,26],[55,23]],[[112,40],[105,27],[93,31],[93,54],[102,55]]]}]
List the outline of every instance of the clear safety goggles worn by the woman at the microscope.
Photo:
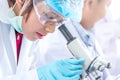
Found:
[{"label": "clear safety goggles worn by the woman at the microscope", "polygon": [[66,20],[62,15],[47,5],[44,0],[33,0],[33,6],[42,25],[55,24],[55,26],[58,26]]}]

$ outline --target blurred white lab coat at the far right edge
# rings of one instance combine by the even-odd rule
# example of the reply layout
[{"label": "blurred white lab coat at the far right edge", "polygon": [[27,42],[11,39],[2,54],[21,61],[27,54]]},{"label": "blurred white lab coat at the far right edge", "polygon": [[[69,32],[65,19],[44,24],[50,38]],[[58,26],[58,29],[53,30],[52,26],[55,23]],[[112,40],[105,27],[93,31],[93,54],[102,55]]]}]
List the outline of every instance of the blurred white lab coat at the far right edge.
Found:
[{"label": "blurred white lab coat at the far right edge", "polygon": [[119,75],[120,53],[117,41],[120,40],[120,20],[97,23],[95,34],[106,59],[112,64],[111,74]]}]

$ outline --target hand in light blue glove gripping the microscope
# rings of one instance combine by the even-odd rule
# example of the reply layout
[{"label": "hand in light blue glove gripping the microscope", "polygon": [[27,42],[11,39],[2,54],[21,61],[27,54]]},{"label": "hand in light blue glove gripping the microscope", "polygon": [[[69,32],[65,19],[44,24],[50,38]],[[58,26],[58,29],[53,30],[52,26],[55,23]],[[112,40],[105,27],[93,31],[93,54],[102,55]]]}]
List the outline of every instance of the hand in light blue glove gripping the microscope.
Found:
[{"label": "hand in light blue glove gripping the microscope", "polygon": [[39,80],[79,80],[84,59],[64,59],[37,69]]}]

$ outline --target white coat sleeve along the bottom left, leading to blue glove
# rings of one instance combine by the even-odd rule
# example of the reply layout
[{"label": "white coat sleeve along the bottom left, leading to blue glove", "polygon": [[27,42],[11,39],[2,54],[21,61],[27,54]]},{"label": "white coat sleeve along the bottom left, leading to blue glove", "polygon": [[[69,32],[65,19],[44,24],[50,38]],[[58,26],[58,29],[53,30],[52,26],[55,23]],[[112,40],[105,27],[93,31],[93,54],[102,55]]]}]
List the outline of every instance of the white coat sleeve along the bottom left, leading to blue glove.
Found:
[{"label": "white coat sleeve along the bottom left, leading to blue glove", "polygon": [[34,69],[23,74],[5,76],[0,80],[39,80],[39,78],[36,69]]}]

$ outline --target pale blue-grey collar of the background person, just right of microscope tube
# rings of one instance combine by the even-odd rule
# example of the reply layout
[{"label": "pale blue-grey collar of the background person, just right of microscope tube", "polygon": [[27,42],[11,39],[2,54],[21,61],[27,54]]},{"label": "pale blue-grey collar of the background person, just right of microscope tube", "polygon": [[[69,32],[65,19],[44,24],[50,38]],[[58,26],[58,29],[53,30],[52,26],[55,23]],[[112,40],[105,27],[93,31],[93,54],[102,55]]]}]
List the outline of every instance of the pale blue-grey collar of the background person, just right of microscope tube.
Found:
[{"label": "pale blue-grey collar of the background person, just right of microscope tube", "polygon": [[83,28],[82,25],[79,23],[73,22],[74,27],[79,34],[80,39],[84,42],[86,47],[91,51],[91,56],[96,56],[98,55],[97,49],[96,49],[96,44],[95,44],[95,35],[93,32],[93,29],[86,30]]}]

